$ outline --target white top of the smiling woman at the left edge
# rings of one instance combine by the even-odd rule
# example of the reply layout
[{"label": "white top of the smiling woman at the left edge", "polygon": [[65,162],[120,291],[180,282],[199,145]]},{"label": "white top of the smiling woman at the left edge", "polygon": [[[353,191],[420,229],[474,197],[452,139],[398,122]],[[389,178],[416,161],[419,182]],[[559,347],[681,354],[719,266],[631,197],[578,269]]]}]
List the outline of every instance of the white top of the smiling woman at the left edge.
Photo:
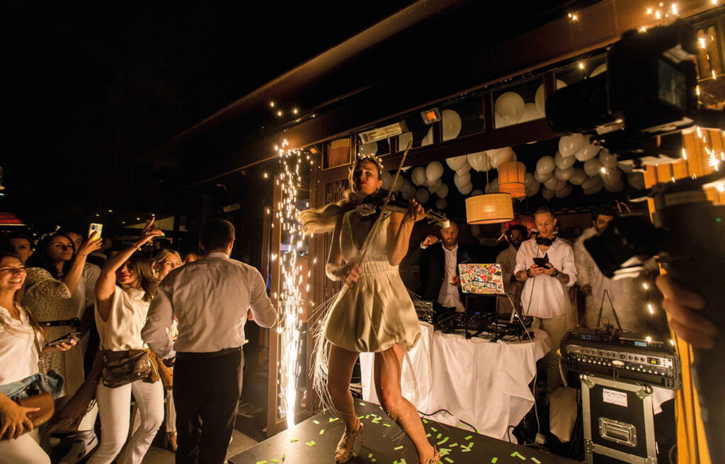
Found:
[{"label": "white top of the smiling woman at the left edge", "polygon": [[[28,315],[21,309],[18,321],[10,317],[6,308],[0,306],[0,319],[10,327],[7,330],[0,326],[0,385],[38,374],[38,349]],[[38,342],[41,342],[40,334]]]}]

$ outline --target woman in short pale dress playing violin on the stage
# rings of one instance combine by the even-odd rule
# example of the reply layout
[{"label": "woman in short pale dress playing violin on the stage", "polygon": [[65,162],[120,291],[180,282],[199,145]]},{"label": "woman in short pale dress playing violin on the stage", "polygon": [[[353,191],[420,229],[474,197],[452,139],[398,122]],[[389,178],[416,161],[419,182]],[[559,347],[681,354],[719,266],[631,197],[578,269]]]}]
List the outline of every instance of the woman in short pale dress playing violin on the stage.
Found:
[{"label": "woman in short pale dress playing violin on the stage", "polygon": [[[381,213],[378,226],[372,229],[374,222],[354,208],[381,187],[381,174],[382,165],[375,157],[358,159],[349,174],[351,190],[343,201],[299,215],[306,234],[334,229],[326,274],[346,284],[323,320],[320,337],[330,343],[329,360],[327,366],[315,369],[315,380],[324,381],[328,373],[324,387],[345,423],[335,460],[346,463],[363,431],[349,390],[352,368],[360,353],[375,353],[375,386],[383,408],[410,437],[418,462],[436,464],[439,453],[428,443],[418,411],[402,396],[400,387],[403,358],[418,342],[421,329],[398,264],[407,253],[413,224],[425,212],[412,200],[405,214]],[[324,362],[324,356],[318,355],[318,363],[320,359]]]}]

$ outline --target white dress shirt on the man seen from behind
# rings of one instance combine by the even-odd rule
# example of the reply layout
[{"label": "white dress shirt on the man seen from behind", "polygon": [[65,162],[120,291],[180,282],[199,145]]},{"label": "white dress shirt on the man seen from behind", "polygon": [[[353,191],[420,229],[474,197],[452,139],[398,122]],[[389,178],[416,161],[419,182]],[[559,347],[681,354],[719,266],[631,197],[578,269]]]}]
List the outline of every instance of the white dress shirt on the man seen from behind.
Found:
[{"label": "white dress shirt on the man seen from behind", "polygon": [[[174,351],[212,353],[244,345],[247,309],[262,327],[277,322],[277,310],[267,296],[262,274],[225,253],[171,271],[159,284],[141,337],[162,358]],[[178,319],[178,338],[167,328]]]}]

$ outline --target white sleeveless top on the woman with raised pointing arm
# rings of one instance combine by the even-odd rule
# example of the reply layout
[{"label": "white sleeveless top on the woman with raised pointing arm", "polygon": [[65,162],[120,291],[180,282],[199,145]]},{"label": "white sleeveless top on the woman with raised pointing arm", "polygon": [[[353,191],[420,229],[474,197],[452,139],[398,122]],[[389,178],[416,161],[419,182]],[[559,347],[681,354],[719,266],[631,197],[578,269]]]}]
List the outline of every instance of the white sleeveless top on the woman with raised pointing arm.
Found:
[{"label": "white sleeveless top on the woman with raised pointing arm", "polygon": [[101,337],[101,350],[144,350],[141,329],[146,324],[149,304],[143,300],[144,290],[123,289],[116,285],[111,313],[107,321],[101,319],[96,303],[96,326]]}]

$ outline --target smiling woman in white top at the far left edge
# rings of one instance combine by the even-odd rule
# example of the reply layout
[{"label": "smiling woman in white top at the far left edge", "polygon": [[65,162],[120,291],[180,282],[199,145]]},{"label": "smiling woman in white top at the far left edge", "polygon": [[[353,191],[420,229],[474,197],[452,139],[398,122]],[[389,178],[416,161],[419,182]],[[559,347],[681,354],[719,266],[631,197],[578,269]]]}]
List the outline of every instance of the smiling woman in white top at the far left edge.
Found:
[{"label": "smiling woman in white top at the far left edge", "polygon": [[[0,385],[4,387],[38,374],[37,346],[45,341],[41,326],[14,301],[15,293],[25,284],[25,275],[25,266],[18,256],[0,253]],[[74,344],[57,348],[67,350]],[[46,347],[43,354],[54,350]],[[0,392],[0,437],[11,438],[0,440],[0,464],[50,464],[50,458],[38,444],[38,431],[33,430],[33,423],[26,416],[34,410],[37,409],[23,408]]]}]

